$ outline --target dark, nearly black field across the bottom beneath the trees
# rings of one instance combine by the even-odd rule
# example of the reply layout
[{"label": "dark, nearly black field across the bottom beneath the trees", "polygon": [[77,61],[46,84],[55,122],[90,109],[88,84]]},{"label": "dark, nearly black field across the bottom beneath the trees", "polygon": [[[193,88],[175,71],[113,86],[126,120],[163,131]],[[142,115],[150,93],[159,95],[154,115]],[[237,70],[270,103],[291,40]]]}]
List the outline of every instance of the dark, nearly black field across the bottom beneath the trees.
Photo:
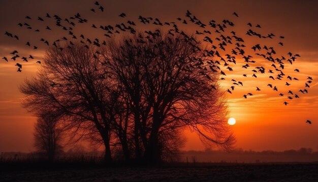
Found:
[{"label": "dark, nearly black field across the bottom beneath the trees", "polygon": [[0,166],[0,181],[318,181],[318,163]]}]

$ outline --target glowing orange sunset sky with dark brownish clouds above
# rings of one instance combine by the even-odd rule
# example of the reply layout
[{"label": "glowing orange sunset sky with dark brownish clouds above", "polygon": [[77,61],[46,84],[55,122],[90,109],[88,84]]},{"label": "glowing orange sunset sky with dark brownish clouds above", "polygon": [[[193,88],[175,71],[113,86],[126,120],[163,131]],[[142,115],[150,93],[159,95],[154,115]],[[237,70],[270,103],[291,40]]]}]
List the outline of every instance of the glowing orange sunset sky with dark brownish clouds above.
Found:
[{"label": "glowing orange sunset sky with dark brownish clouds above", "polygon": [[[206,24],[211,20],[222,21],[229,19],[233,21],[237,32],[242,36],[248,28],[246,23],[251,22],[253,26],[260,24],[262,28],[257,29],[262,33],[273,33],[275,40],[266,42],[260,39],[246,40],[250,45],[271,43],[275,50],[286,55],[287,52],[298,53],[293,65],[287,65],[284,73],[297,77],[299,81],[289,81],[291,86],[285,86],[285,81],[271,80],[269,74],[258,74],[258,79],[251,77],[251,72],[245,78],[242,75],[246,70],[240,68],[244,65],[238,60],[238,66],[234,71],[225,70],[227,77],[221,81],[221,86],[228,89],[232,85],[231,79],[242,81],[243,86],[236,86],[233,94],[227,94],[229,117],[236,119],[236,124],[231,126],[236,136],[237,148],[252,150],[286,150],[310,147],[318,150],[318,12],[317,1],[99,1],[105,8],[104,12],[98,11],[94,6],[95,1],[0,1],[0,57],[12,57],[10,52],[19,50],[21,55],[33,55],[35,60],[23,63],[22,72],[16,72],[16,63],[13,60],[5,62],[0,60],[0,151],[33,151],[33,129],[36,117],[28,113],[21,105],[23,95],[19,92],[19,85],[26,79],[36,76],[40,67],[36,63],[41,60],[47,48],[39,38],[47,39],[49,42],[64,34],[56,31],[54,25],[46,21],[36,20],[38,16],[45,19],[46,13],[57,14],[60,17],[70,17],[80,12],[81,15],[94,24],[116,24],[123,21],[118,15],[124,12],[128,19],[138,22],[138,16],[158,17],[162,21],[177,21],[177,17],[185,18],[186,10],[192,12],[198,19]],[[97,13],[89,11],[91,8]],[[232,13],[236,12],[239,17]],[[30,16],[34,20],[25,19]],[[33,29],[19,27],[18,23],[29,23]],[[179,23],[181,24],[181,23]],[[52,31],[45,30],[46,25]],[[139,23],[139,28],[143,25]],[[180,25],[182,27],[182,25]],[[34,29],[41,29],[36,33]],[[54,29],[55,28],[55,29]],[[90,34],[91,28],[82,28],[81,34]],[[19,41],[5,36],[8,31],[19,35]],[[187,32],[195,32],[195,27],[187,26]],[[201,29],[202,31],[202,29]],[[244,32],[245,31],[245,32]],[[75,33],[79,34],[79,32]],[[95,33],[95,32],[94,32]],[[101,33],[96,31],[96,33]],[[278,36],[284,36],[279,39]],[[244,40],[245,40],[244,37]],[[27,41],[39,47],[33,50],[25,45]],[[278,45],[282,41],[283,46]],[[247,44],[247,43],[246,43]],[[247,53],[253,53],[246,48]],[[257,62],[269,68],[268,63],[255,58]],[[264,60],[263,60],[264,61]],[[300,72],[295,72],[297,68]],[[270,68],[269,68],[270,69]],[[272,68],[271,68],[272,69]],[[304,89],[307,77],[313,78],[308,94],[298,92]],[[299,99],[288,100],[289,105],[282,103],[286,98],[278,96],[278,92],[267,86],[268,83],[276,85],[279,93],[286,94],[289,89],[300,96]],[[261,91],[256,91],[256,87]],[[242,96],[252,93],[253,96],[244,99]],[[312,121],[309,125],[306,120]],[[194,134],[186,131],[184,136],[187,142],[185,150],[203,150],[205,146]]]}]

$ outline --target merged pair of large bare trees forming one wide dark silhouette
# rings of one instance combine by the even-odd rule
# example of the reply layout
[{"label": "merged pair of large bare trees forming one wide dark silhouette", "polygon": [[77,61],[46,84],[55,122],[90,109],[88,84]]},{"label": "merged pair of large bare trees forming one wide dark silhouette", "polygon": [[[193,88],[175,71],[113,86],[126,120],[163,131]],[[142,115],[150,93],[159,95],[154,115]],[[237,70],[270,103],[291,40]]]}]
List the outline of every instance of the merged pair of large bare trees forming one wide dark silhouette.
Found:
[{"label": "merged pair of large bare trees forming one wide dark silhouette", "polygon": [[200,42],[148,34],[99,49],[80,43],[50,48],[38,77],[20,87],[24,105],[33,112],[51,108],[69,129],[102,142],[106,161],[119,145],[127,161],[159,162],[182,145],[184,129],[231,148],[225,92]]}]

